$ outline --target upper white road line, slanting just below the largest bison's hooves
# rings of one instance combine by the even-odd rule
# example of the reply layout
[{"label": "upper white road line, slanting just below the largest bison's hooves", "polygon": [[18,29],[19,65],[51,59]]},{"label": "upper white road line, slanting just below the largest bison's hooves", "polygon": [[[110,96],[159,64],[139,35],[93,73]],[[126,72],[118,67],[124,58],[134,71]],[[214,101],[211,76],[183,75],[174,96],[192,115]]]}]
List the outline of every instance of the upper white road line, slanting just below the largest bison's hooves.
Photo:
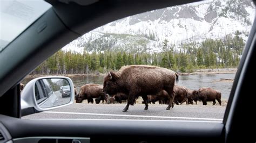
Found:
[{"label": "upper white road line, slanting just below the largest bison's hooves", "polygon": [[98,115],[98,116],[118,116],[118,117],[142,117],[142,118],[165,118],[165,119],[190,119],[190,120],[217,120],[217,121],[223,121],[223,119],[216,119],[216,118],[117,115],[117,114],[102,114],[102,113],[79,113],[79,112],[56,112],[56,111],[45,111],[44,113],[59,113],[59,114],[70,114],[70,115]]}]

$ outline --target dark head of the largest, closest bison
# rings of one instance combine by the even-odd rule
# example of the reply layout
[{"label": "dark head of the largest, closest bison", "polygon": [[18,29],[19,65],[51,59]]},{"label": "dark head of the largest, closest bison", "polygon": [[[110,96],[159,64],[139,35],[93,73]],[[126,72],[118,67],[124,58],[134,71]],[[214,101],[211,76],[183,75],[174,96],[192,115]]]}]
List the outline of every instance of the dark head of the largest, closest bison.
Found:
[{"label": "dark head of the largest, closest bison", "polygon": [[114,95],[117,93],[117,80],[117,75],[111,71],[104,77],[103,91],[105,94]]}]

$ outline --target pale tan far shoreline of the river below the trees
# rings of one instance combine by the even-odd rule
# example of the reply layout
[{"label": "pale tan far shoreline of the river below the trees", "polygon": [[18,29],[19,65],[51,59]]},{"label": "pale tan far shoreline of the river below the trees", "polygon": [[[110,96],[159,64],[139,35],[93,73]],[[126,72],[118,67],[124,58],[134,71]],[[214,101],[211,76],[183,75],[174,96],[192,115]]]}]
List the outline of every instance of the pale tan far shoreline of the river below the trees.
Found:
[{"label": "pale tan far shoreline of the river below the trees", "polygon": [[[179,75],[200,75],[200,74],[234,74],[237,73],[237,68],[227,68],[227,69],[199,69],[193,73],[179,73]],[[105,73],[106,74],[106,73]],[[67,77],[77,77],[77,76],[103,76],[103,73],[99,74],[66,74],[66,75],[28,75],[25,78],[36,78],[42,76],[67,76]]]}]

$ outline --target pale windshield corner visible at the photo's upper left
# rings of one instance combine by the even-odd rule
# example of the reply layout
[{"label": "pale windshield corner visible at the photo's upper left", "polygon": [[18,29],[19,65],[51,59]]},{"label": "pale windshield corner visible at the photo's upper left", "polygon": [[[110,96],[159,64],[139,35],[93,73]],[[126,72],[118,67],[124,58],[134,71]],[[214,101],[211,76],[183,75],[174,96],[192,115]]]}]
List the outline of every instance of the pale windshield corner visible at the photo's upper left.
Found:
[{"label": "pale windshield corner visible at the photo's upper left", "polygon": [[45,11],[44,1],[0,1],[0,52]]}]

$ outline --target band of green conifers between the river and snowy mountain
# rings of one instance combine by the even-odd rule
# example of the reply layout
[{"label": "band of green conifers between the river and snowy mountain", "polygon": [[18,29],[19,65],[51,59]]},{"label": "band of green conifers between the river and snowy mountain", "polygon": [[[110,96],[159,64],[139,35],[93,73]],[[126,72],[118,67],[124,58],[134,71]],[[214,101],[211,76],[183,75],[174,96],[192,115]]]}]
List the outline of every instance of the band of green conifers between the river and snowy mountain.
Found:
[{"label": "band of green conifers between the river and snowy mountain", "polygon": [[[153,65],[178,72],[197,69],[234,68],[239,64],[244,40],[241,33],[224,39],[206,39],[176,46],[163,41],[161,53],[111,51],[76,53],[61,49],[45,60],[31,74],[99,74],[125,65]],[[86,48],[85,48],[86,49]]]}]

